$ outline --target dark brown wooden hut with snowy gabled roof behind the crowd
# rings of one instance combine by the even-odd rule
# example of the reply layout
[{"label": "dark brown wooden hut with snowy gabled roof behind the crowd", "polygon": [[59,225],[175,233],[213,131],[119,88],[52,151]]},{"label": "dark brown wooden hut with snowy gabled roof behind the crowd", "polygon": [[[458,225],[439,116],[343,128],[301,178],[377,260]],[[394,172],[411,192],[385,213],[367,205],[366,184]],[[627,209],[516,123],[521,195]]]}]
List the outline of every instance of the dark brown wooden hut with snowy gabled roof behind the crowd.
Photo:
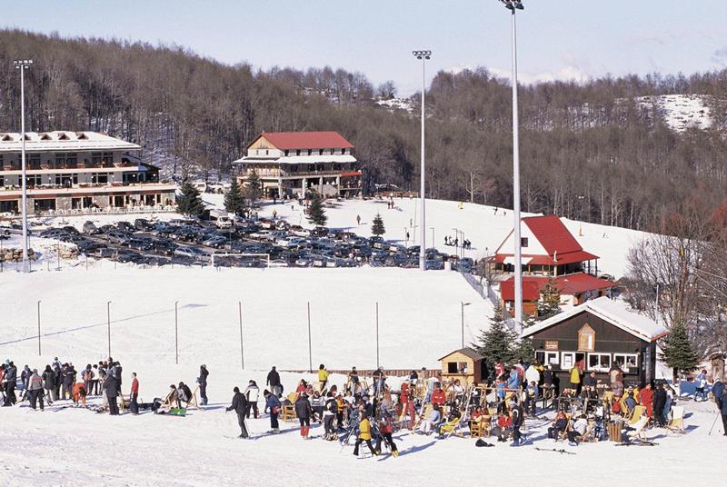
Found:
[{"label": "dark brown wooden hut with snowy gabled roof behind the crowd", "polygon": [[624,384],[641,385],[655,379],[656,341],[667,333],[627,303],[600,297],[525,328],[522,335],[533,339],[536,360],[550,364],[561,384],[569,383],[573,364],[582,362],[585,373],[593,371],[605,383],[618,363]]}]

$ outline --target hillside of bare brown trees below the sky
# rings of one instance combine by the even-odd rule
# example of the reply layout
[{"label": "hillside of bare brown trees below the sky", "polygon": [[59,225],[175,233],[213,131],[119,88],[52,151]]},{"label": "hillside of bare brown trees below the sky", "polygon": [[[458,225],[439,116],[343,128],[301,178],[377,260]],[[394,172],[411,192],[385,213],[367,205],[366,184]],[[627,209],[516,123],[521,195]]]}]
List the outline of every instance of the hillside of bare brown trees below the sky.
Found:
[{"label": "hillside of bare brown trees below the sky", "polygon": [[[170,162],[179,177],[228,173],[262,131],[337,130],[356,145],[367,187],[417,187],[416,110],[374,104],[393,85],[374,87],[359,73],[266,72],[176,46],[0,31],[0,131],[20,127],[15,58],[35,61],[28,130],[114,134]],[[644,229],[683,201],[713,207],[727,194],[727,70],[521,90],[525,210]],[[700,95],[709,124],[672,130],[655,96],[665,94]],[[512,205],[507,80],[485,69],[441,72],[428,100],[431,196]]]}]

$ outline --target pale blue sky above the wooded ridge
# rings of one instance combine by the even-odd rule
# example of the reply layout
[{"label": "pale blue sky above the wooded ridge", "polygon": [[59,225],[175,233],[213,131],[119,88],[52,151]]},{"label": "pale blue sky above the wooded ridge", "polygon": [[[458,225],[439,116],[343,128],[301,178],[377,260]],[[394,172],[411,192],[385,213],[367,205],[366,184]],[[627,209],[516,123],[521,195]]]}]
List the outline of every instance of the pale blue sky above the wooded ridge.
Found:
[{"label": "pale blue sky above the wooded ridge", "polygon": [[[524,0],[523,82],[606,73],[691,74],[727,66],[727,0]],[[510,17],[497,0],[0,0],[0,25],[63,36],[190,47],[234,64],[344,67],[401,94],[429,76],[484,65],[510,70]]]}]

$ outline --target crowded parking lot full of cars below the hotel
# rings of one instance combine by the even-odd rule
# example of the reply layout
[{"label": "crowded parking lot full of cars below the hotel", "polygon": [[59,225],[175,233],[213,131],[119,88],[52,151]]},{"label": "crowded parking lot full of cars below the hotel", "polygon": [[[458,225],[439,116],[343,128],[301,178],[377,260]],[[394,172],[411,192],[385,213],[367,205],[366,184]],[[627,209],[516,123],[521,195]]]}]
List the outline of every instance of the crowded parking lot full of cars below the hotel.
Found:
[{"label": "crowded parking lot full of cars below the hotel", "polygon": [[[53,227],[38,236],[75,244],[78,253],[142,265],[214,265],[234,267],[374,267],[416,268],[419,246],[405,247],[381,237],[365,238],[326,227],[312,230],[281,219],[215,222],[177,219],[152,222],[138,218],[96,226],[86,222]],[[426,250],[432,270],[472,272],[469,258]]]}]

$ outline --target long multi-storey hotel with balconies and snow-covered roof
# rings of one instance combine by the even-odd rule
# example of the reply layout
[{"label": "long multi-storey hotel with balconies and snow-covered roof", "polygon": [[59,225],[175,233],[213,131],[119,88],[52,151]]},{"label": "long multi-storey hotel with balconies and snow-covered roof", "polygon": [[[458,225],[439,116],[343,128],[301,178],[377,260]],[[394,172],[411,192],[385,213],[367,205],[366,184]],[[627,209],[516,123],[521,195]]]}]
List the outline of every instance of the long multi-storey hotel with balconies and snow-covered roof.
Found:
[{"label": "long multi-storey hotel with balconies and snow-covered roof", "polygon": [[[0,133],[0,213],[20,211],[21,145],[21,134]],[[174,184],[160,183],[140,151],[95,132],[26,133],[28,212],[174,204]]]}]

